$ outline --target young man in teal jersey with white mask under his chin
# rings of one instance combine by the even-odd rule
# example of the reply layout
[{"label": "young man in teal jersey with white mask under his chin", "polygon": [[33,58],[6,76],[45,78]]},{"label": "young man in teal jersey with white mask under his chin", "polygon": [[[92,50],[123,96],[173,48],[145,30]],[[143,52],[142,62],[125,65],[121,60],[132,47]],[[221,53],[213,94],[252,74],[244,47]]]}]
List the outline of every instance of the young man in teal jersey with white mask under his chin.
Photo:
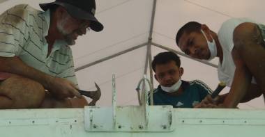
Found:
[{"label": "young man in teal jersey with white mask under his chin", "polygon": [[[211,94],[212,90],[202,81],[183,81],[183,67],[179,56],[162,52],[152,62],[155,78],[160,83],[153,91],[154,105],[172,105],[174,108],[192,108]],[[149,100],[150,102],[150,100]]]}]

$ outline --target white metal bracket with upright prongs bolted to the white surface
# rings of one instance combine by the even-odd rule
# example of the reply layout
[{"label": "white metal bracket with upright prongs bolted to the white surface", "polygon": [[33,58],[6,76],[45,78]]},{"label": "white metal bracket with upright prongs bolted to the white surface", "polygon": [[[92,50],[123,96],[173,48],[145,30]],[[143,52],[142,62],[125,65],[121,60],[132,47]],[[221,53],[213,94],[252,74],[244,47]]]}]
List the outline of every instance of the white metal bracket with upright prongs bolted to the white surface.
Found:
[{"label": "white metal bracket with upright prongs bolted to the white surface", "polygon": [[141,106],[116,106],[116,83],[112,76],[112,107],[85,106],[86,131],[165,132],[173,131],[172,106],[149,106],[147,91]]}]

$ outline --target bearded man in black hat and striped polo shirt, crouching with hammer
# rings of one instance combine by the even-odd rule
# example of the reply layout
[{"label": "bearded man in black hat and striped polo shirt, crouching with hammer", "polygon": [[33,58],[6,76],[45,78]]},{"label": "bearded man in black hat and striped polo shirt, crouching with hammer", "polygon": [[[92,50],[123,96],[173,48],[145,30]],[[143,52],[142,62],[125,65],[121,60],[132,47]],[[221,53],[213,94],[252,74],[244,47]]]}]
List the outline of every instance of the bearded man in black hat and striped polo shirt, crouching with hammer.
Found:
[{"label": "bearded man in black hat and striped polo shirt, crouching with hammer", "polygon": [[[69,45],[88,28],[103,30],[95,0],[56,0],[40,8],[45,12],[21,4],[0,15],[0,108],[87,104],[77,91]],[[75,96],[81,99],[70,99]]]}]

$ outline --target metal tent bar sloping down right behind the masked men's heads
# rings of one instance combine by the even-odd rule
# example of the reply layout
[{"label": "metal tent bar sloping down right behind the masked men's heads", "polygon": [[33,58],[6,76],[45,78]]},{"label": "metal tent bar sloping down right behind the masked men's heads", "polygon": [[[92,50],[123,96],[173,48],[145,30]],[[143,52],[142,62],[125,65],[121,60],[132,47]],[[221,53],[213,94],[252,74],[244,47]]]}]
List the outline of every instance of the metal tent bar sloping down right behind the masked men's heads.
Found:
[{"label": "metal tent bar sloping down right behind the masked men's heads", "polygon": [[172,52],[174,52],[175,54],[179,54],[179,55],[181,55],[181,56],[185,56],[186,58],[190,58],[190,59],[192,59],[192,60],[199,61],[200,63],[204,63],[204,64],[209,65],[209,66],[211,66],[211,67],[218,68],[218,65],[215,65],[215,64],[213,64],[213,63],[209,63],[208,61],[202,61],[202,60],[199,60],[199,59],[191,58],[190,56],[188,56],[188,55],[186,55],[186,54],[183,54],[183,53],[180,52],[180,51],[176,51],[176,50],[174,50],[174,49],[170,49],[169,47],[165,47],[165,46],[162,46],[162,45],[158,45],[158,44],[156,44],[156,43],[154,43],[154,42],[152,42],[152,45],[154,45],[154,46],[156,46],[156,47],[160,47],[161,49],[165,49],[165,50],[167,50],[167,51],[172,51]]}]

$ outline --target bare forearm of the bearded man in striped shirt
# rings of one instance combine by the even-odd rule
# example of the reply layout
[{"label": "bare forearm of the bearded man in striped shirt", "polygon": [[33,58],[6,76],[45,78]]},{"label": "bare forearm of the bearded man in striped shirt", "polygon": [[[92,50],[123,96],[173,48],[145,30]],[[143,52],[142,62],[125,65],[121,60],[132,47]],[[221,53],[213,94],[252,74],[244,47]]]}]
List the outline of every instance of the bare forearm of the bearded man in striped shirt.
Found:
[{"label": "bare forearm of the bearded man in striped shirt", "polygon": [[8,72],[27,77],[42,84],[46,89],[50,83],[50,79],[52,79],[52,76],[30,67],[18,57],[0,57],[0,64],[0,72]]}]

